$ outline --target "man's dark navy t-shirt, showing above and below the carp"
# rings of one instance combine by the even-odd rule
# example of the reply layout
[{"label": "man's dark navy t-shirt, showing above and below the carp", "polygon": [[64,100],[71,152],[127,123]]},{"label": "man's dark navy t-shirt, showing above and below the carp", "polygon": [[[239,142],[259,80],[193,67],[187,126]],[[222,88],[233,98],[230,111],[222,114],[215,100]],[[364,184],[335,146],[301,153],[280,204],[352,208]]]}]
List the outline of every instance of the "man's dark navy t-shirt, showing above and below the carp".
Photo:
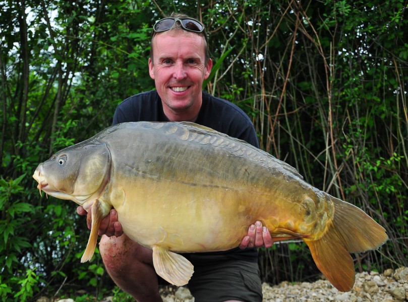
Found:
[{"label": "man's dark navy t-shirt, showing above and below the carp", "polygon": [[[116,107],[113,125],[124,122],[168,122],[164,115],[163,105],[157,91],[134,95]],[[259,148],[258,138],[249,117],[238,106],[203,91],[203,102],[198,114],[197,124],[212,128],[236,137]],[[254,221],[255,222],[255,221]],[[239,248],[225,252],[197,253],[205,255],[228,255],[234,258],[257,262],[257,250]],[[185,255],[186,256],[186,255]],[[194,263],[193,263],[194,264]]]}]

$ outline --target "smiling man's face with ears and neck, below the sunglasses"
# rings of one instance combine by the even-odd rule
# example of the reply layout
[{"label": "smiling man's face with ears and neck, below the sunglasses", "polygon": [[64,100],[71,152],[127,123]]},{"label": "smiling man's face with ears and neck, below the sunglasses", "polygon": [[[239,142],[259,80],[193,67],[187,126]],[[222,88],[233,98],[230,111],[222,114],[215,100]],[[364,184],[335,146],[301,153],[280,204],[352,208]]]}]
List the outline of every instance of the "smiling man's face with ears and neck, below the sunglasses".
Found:
[{"label": "smiling man's face with ears and neck, below the sunglasses", "polygon": [[203,81],[212,61],[204,63],[204,38],[185,30],[166,31],[153,38],[150,77],[171,121],[194,121],[201,108]]}]

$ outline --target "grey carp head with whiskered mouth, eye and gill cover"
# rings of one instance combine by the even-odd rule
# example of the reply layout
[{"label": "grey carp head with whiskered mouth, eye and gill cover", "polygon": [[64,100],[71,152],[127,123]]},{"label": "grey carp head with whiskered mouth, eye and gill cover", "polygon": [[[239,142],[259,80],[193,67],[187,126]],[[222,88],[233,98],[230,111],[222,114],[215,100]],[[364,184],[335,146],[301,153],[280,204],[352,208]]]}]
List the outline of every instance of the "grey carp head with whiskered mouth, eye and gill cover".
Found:
[{"label": "grey carp head with whiskered mouth, eye and gill cover", "polygon": [[38,165],[33,178],[40,194],[42,190],[84,206],[87,200],[99,197],[109,182],[110,158],[106,144],[85,141],[52,155]]}]

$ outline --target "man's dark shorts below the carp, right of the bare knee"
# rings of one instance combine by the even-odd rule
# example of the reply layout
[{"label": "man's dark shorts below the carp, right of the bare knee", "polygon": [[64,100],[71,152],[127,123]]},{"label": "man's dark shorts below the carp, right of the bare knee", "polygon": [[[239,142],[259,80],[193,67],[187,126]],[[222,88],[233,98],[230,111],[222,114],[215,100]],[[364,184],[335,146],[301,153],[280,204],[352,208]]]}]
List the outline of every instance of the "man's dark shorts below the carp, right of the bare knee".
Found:
[{"label": "man's dark shorts below the carp, right of the bare knee", "polygon": [[188,258],[194,265],[188,287],[195,302],[262,301],[258,263],[225,255],[190,254]]}]

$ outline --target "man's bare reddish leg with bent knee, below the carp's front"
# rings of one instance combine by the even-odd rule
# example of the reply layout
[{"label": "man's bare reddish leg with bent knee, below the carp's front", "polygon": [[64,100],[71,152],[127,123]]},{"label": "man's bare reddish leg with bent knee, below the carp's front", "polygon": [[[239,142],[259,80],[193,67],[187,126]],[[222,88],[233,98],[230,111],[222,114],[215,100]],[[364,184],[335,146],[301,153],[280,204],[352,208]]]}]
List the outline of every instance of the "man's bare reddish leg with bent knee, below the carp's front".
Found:
[{"label": "man's bare reddish leg with bent knee, below the carp's front", "polygon": [[135,243],[125,234],[102,236],[99,251],[112,280],[138,301],[162,301],[152,251]]}]

